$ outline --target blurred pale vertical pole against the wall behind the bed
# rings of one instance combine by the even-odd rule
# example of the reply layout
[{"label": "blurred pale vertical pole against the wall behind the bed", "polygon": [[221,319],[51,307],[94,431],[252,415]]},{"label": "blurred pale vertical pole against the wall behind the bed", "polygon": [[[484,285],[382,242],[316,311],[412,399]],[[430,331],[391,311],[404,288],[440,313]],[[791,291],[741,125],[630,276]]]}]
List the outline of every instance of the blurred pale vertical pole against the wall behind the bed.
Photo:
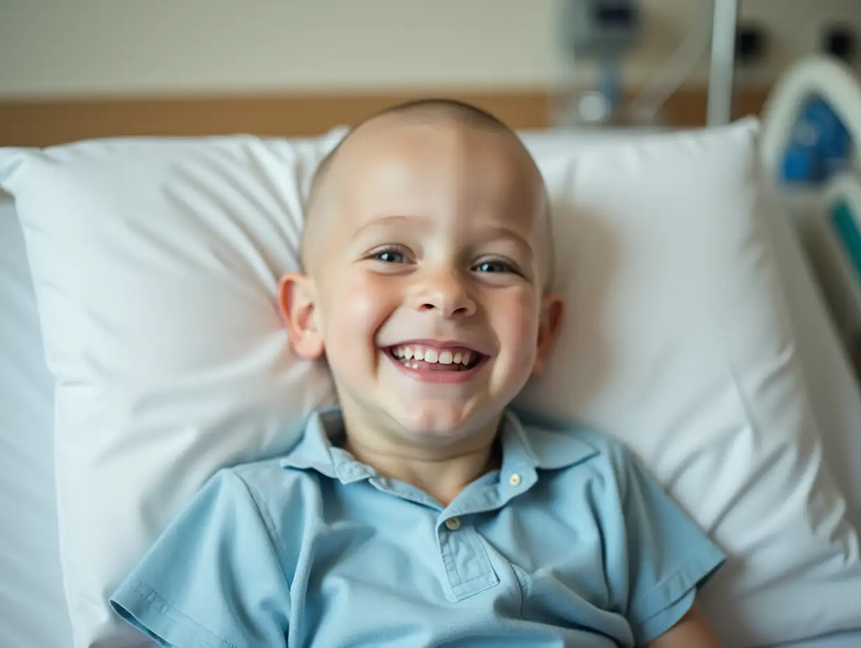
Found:
[{"label": "blurred pale vertical pole against the wall behind the bed", "polygon": [[728,124],[733,117],[735,28],[739,0],[715,0],[709,71],[709,127]]}]

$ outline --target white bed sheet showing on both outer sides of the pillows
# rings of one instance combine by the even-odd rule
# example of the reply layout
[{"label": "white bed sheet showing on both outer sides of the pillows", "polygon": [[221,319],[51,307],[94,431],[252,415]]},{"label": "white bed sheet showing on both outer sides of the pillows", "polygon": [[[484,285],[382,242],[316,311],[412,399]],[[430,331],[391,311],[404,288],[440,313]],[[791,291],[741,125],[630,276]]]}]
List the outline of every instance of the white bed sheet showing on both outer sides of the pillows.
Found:
[{"label": "white bed sheet showing on both outer sides of the pillows", "polygon": [[[782,213],[771,229],[798,351],[835,476],[861,528],[861,392]],[[69,648],[53,484],[53,390],[14,208],[0,194],[0,627],[6,645]],[[782,648],[858,648],[861,633]]]}]

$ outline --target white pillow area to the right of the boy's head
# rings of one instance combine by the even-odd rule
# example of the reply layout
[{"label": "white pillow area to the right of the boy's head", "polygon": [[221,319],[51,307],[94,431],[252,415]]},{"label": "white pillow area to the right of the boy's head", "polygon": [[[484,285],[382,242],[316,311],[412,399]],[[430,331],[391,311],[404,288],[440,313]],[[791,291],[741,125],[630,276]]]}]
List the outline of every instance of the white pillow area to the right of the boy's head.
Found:
[{"label": "white pillow area to the right of the boy's head", "polygon": [[542,161],[573,321],[519,398],[620,438],[728,552],[703,602],[733,646],[861,628],[858,534],[796,354],[758,130]]}]

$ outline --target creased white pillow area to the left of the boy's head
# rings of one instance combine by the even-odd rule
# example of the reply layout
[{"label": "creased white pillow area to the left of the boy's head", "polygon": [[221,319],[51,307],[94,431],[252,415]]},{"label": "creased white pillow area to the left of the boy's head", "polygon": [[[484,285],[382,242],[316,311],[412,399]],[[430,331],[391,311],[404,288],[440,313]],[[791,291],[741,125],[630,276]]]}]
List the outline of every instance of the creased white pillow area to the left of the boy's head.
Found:
[{"label": "creased white pillow area to the left of the boy's head", "polygon": [[273,295],[299,266],[303,200],[341,135],[0,151],[56,381],[75,645],[144,644],[107,606],[123,572],[218,468],[286,451],[289,424],[333,402]]}]

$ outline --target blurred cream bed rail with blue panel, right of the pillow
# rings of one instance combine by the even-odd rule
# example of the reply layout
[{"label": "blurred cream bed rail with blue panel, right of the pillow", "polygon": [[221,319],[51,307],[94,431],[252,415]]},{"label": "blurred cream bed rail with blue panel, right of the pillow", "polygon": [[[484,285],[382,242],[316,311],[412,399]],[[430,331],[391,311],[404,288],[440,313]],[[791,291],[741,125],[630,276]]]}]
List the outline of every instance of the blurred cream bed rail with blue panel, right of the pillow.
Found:
[{"label": "blurred cream bed rail with blue panel, right of the pillow", "polygon": [[[764,110],[765,172],[781,189],[847,351],[861,360],[861,83],[812,56],[790,68]],[[857,367],[858,368],[858,367]]]}]

